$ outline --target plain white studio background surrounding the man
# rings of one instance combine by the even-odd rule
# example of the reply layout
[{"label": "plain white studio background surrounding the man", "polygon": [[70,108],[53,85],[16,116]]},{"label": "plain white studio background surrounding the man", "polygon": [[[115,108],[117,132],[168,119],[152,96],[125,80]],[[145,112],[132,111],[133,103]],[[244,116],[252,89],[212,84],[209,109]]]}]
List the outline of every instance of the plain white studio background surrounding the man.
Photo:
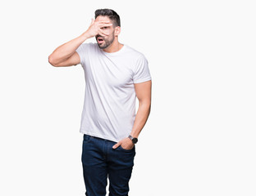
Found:
[{"label": "plain white studio background surrounding the man", "polygon": [[[131,196],[256,195],[254,1],[5,1],[1,16],[0,195],[85,195],[80,65],[48,56],[98,8],[153,78]],[[88,40],[94,42],[94,39]]]}]

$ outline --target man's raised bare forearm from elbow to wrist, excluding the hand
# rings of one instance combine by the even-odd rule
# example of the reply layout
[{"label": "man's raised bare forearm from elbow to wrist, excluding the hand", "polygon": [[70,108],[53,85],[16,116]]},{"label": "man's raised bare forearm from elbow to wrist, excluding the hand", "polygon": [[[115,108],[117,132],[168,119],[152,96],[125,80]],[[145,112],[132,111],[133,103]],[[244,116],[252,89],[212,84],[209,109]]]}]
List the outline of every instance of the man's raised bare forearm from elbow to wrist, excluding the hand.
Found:
[{"label": "man's raised bare forearm from elbow to wrist, excluding the hand", "polygon": [[62,44],[62,46],[57,47],[53,53],[49,56],[49,60],[53,64],[59,64],[71,57],[75,50],[80,47],[80,45],[88,39],[87,33],[82,33],[78,38],[74,38],[69,42]]}]

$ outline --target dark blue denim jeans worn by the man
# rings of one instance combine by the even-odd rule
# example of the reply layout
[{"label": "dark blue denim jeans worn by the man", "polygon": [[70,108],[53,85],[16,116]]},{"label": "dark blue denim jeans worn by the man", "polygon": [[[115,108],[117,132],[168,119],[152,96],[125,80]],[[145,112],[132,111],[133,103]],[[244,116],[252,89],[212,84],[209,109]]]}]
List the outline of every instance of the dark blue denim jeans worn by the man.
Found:
[{"label": "dark blue denim jeans worn by the man", "polygon": [[84,135],[82,163],[87,196],[127,196],[134,166],[135,148],[112,149],[116,142]]}]

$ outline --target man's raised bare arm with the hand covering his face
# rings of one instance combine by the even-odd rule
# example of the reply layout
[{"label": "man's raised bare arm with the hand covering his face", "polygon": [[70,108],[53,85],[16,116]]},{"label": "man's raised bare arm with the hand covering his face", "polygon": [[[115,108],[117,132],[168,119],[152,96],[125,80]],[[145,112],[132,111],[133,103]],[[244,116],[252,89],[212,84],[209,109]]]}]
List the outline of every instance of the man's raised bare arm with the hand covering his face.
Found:
[{"label": "man's raised bare arm with the hand covering his face", "polygon": [[48,61],[54,67],[64,67],[80,64],[80,56],[76,52],[76,49],[85,42],[86,39],[92,38],[97,34],[101,36],[108,35],[103,31],[103,27],[110,26],[111,23],[107,22],[95,22],[92,20],[89,29],[82,33],[78,38],[74,38],[69,42],[62,44],[62,46],[57,47],[53,53],[48,56]]}]

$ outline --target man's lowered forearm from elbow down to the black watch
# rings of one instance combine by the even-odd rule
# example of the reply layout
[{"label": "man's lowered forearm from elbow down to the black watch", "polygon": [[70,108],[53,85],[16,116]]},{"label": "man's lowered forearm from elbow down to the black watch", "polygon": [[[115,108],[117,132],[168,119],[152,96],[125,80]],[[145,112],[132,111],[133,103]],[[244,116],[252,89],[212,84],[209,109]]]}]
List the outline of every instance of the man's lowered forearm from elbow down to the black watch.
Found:
[{"label": "man's lowered forearm from elbow down to the black watch", "polygon": [[132,131],[130,132],[130,135],[133,137],[138,137],[140,131],[143,129],[145,123],[147,122],[150,114],[150,103],[148,102],[142,102],[139,103],[139,109],[135,117],[134,126],[132,128]]}]

